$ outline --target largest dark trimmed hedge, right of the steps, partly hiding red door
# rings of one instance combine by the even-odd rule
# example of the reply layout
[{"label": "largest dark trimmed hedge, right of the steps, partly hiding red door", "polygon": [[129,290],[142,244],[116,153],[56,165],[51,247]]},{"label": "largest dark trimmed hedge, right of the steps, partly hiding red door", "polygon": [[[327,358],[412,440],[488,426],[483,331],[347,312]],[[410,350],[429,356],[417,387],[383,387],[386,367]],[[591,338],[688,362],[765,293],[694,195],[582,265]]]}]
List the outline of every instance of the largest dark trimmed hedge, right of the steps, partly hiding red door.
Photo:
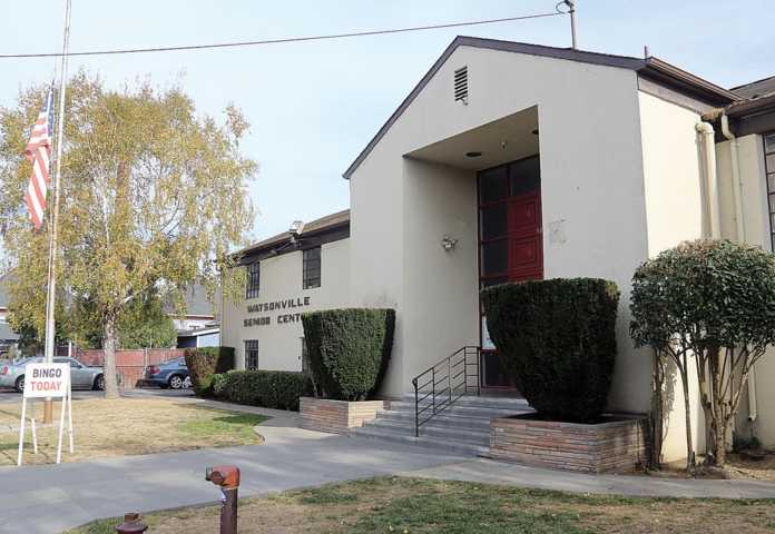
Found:
[{"label": "largest dark trimmed hedge, right of the steps, partly hiding red door", "polygon": [[619,290],[572,278],[482,290],[490,336],[522,395],[548,418],[589,422],[606,407]]}]

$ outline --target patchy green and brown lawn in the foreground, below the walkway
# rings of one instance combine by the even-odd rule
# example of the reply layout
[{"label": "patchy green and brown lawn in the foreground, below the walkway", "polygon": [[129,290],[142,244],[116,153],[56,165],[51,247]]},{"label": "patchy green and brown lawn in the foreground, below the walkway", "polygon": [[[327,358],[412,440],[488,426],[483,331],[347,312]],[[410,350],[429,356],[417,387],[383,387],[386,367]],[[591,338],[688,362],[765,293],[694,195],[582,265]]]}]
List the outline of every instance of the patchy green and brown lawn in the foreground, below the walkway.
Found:
[{"label": "patchy green and brown lawn in the foreground, below the walkway", "polygon": [[[151,534],[216,533],[218,507],[148,514]],[[68,534],[111,534],[118,518]],[[464,482],[380,477],[239,504],[239,532],[580,534],[775,532],[774,501],[627,498]]]}]

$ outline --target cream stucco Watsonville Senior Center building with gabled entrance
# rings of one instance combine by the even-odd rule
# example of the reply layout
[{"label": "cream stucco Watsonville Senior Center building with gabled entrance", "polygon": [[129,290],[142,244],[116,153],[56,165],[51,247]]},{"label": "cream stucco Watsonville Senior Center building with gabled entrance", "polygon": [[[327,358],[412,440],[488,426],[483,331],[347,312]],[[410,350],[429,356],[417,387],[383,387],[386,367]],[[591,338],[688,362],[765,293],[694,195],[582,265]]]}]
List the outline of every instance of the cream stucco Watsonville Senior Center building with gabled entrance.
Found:
[{"label": "cream stucco Watsonville Senior Center building with gabled entrance", "polygon": [[[344,172],[346,233],[315,221],[293,239],[243,251],[248,269],[259,261],[261,289],[226,306],[223,343],[237,348],[241,365],[247,342],[258,339],[259,368],[301,369],[298,322],[278,323],[276,305],[252,305],[389,306],[398,323],[383,395],[404,394],[414,376],[467,345],[482,349],[481,385],[509,390],[479,289],[602,277],[621,289],[609,408],[648,412],[651,358],[628,335],[636,267],[703,236],[772,248],[765,146],[775,151],[775,138],[765,145],[763,134],[775,123],[759,120],[734,141],[720,134],[718,110],[728,109],[734,130],[748,97],[656,58],[460,37]],[[775,175],[771,181],[775,188]],[[322,280],[304,289],[304,250],[318,246],[316,231],[330,233],[317,239]],[[252,320],[259,316],[271,323]],[[772,378],[775,357],[756,372],[756,380]],[[757,390],[759,437],[775,445],[775,394]],[[668,459],[684,452],[679,395]]]}]

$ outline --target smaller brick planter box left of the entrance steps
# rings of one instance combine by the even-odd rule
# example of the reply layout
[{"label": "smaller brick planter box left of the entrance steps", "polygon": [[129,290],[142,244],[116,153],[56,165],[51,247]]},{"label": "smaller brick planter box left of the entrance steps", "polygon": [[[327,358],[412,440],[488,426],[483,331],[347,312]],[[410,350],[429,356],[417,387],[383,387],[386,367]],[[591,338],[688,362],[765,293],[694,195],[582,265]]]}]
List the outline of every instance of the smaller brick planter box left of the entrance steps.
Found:
[{"label": "smaller brick planter box left of the entrance steps", "polygon": [[328,398],[301,397],[298,414],[302,428],[344,434],[350,428],[376,418],[376,413],[390,407],[389,400],[331,400]]}]

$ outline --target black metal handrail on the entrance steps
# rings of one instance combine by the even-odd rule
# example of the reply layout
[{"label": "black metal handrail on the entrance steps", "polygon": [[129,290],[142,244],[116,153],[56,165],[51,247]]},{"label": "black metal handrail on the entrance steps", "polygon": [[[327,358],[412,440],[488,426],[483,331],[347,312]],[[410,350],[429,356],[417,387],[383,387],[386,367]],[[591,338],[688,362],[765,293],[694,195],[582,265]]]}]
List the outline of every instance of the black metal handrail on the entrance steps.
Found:
[{"label": "black metal handrail on the entrance steps", "polygon": [[[420,427],[451,406],[463,395],[481,393],[479,377],[481,348],[461,347],[438,364],[412,378],[414,386],[414,436],[420,436]],[[462,369],[457,367],[462,365]],[[473,367],[473,373],[469,369]],[[440,376],[436,376],[440,375]],[[422,385],[420,385],[420,380]],[[430,390],[425,389],[430,386]],[[436,389],[436,386],[443,386]],[[461,392],[462,390],[462,392]],[[422,396],[421,396],[422,394]],[[430,414],[424,415],[428,411]],[[421,415],[423,416],[421,418]]]}]

